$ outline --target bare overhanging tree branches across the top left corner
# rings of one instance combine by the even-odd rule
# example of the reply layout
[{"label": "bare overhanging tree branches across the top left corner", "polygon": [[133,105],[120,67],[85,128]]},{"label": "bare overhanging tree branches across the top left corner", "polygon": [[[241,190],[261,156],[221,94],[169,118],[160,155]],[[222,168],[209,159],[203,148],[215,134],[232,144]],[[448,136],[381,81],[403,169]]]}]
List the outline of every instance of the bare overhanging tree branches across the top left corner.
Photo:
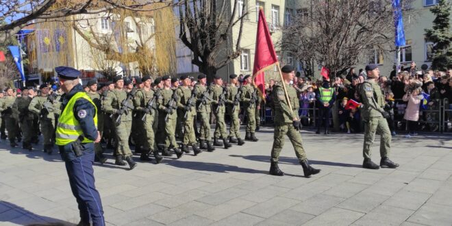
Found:
[{"label": "bare overhanging tree branches across the top left corner", "polygon": [[8,40],[8,37],[36,20],[47,22],[75,14],[97,14],[114,8],[147,11],[143,7],[157,2],[173,4],[173,0],[0,0],[0,21],[10,21],[0,25],[0,42]]}]

